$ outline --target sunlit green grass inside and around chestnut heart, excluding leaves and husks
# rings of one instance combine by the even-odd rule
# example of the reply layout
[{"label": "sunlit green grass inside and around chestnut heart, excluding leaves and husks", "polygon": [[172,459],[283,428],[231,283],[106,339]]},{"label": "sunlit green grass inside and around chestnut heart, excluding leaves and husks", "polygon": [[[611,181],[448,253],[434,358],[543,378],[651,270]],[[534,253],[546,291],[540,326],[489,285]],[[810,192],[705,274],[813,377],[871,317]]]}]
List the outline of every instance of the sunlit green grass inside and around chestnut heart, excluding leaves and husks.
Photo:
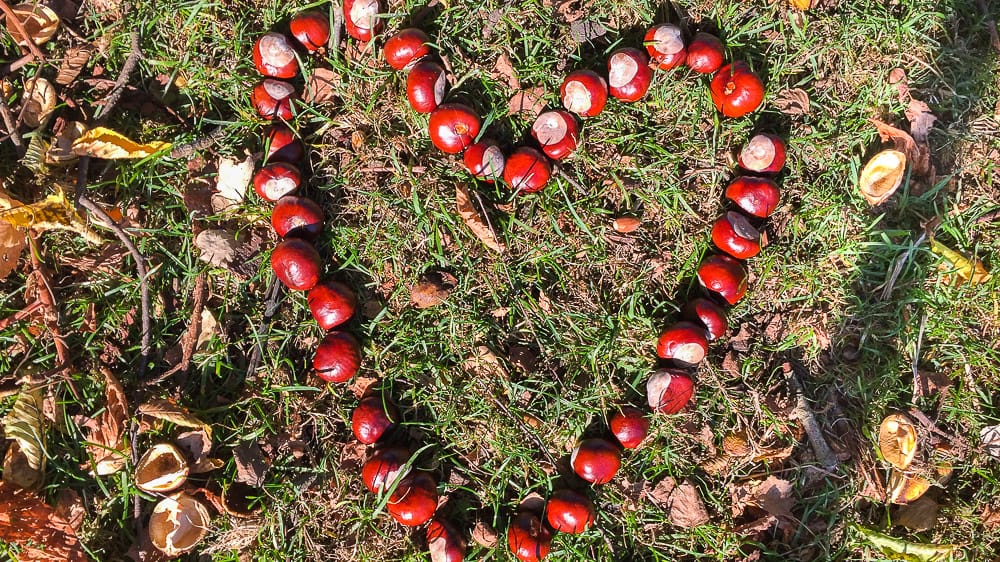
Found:
[{"label": "sunlit green grass inside and around chestnut heart, excluding leaves and husks", "polygon": [[[697,292],[694,271],[711,250],[708,233],[733,175],[733,151],[761,128],[789,139],[790,159],[780,178],[782,205],[767,228],[770,246],[750,263],[750,292],[730,313],[732,334],[745,329],[749,335],[748,348],[734,352],[739,376],[722,367],[731,340],[713,345],[697,372],[695,405],[654,419],[652,437],[624,455],[620,476],[594,490],[595,528],[556,537],[550,559],[724,561],[756,550],[773,560],[882,559],[850,527],[885,530],[891,512],[859,497],[864,467],[858,455],[875,458],[879,421],[888,410],[911,405],[971,448],[955,462],[953,479],[935,492],[941,504],[937,526],[888,532],[916,542],[964,544],[969,559],[991,559],[1000,533],[984,527],[980,517],[987,505],[996,505],[1000,480],[997,461],[976,446],[979,430],[1000,418],[998,282],[953,286],[928,245],[914,247],[921,225],[938,217],[941,242],[988,266],[1000,263],[1000,223],[976,222],[997,209],[1000,151],[998,56],[989,49],[983,14],[972,0],[840,2],[805,14],[786,11],[782,2],[677,4],[689,26],[701,22],[721,30],[731,55],[748,59],[766,78],[764,110],[749,119],[723,120],[712,108],[707,79],[684,69],[657,73],[645,100],[628,106],[611,101],[585,122],[581,148],[564,166],[573,183],[556,176],[543,193],[526,197],[503,186],[472,186],[456,159],[437,152],[425,132],[426,116],[409,109],[403,76],[384,66],[378,49],[352,46],[349,59],[341,51],[303,61],[307,70],[332,68],[343,77],[336,103],[310,109],[298,121],[312,148],[306,194],[328,216],[319,242],[328,273],[352,285],[365,304],[351,329],[364,342],[362,375],[378,379],[402,410],[404,423],[393,438],[420,449],[416,465],[441,478],[440,491],[449,498],[445,513],[463,529],[486,521],[502,537],[520,498],[533,491],[546,495],[568,480],[560,474],[581,434],[599,433],[615,404],[643,400],[655,366],[655,337],[677,316],[685,296]],[[310,6],[328,8],[325,2]],[[423,6],[394,4],[387,27],[403,27]],[[249,103],[257,79],[251,45],[305,7],[170,0],[139,3],[120,22],[88,11],[73,25],[88,40],[106,43],[96,63],[111,79],[127,56],[128,32],[138,30],[145,58],[130,83],[162,97],[183,120],[164,111],[142,115],[130,108],[126,94],[111,126],[142,140],[176,143],[222,126],[223,140],[202,154],[212,162],[216,152],[260,149],[261,127]],[[642,31],[667,14],[646,2],[596,1],[586,10],[609,31],[582,45],[573,42],[554,8],[541,2],[439,4],[421,27],[460,80],[452,95],[472,99],[493,123],[491,134],[514,143],[530,123],[507,115],[514,92],[493,75],[498,56],[508,55],[521,83],[543,86],[555,106],[566,72],[599,69],[612,50],[637,45]],[[494,11],[497,23],[489,26]],[[61,34],[49,47],[51,60],[20,73],[54,74],[73,41]],[[8,39],[4,47],[16,52]],[[867,120],[905,122],[905,104],[887,81],[896,67],[906,70],[914,97],[939,117],[930,138],[938,181],[908,182],[888,205],[871,209],[856,192],[856,178],[878,147]],[[88,67],[83,76],[93,70]],[[182,79],[184,86],[165,92],[154,80],[158,75]],[[19,84],[19,76],[12,79]],[[808,92],[807,115],[774,109],[774,99],[789,88]],[[71,95],[84,107],[100,97],[85,84],[75,85]],[[78,117],[69,108],[61,111]],[[50,189],[51,178],[36,185],[13,162],[10,142],[0,149],[7,189],[26,200]],[[365,171],[372,167],[396,172]],[[131,400],[175,397],[213,424],[215,451],[226,465],[211,473],[212,484],[233,481],[230,451],[241,441],[260,441],[271,450],[260,517],[215,517],[200,547],[210,549],[211,559],[427,559],[423,533],[393,522],[380,507],[384,498],[360,483],[361,452],[349,428],[357,400],[346,387],[326,387],[310,373],[322,333],[304,295],[285,296],[258,332],[272,278],[267,260],[241,279],[197,258],[183,198],[194,175],[185,161],[166,157],[95,163],[89,187],[95,200],[138,212],[141,228],[132,234],[154,271],[152,375],[169,368],[163,354],[187,326],[194,280],[208,275],[207,307],[223,335],[196,354],[187,378],[174,376],[140,390],[139,291],[130,258],[117,267],[78,271],[70,260],[102,248],[65,233],[42,239],[42,260],[54,271],[61,326],[73,350],[73,380],[81,391],[76,399],[64,383],[50,387],[66,411],[66,431],[49,435],[46,497],[54,500],[65,487],[80,492],[88,508],[80,532],[95,560],[122,559],[133,543],[130,473],[98,482],[80,468],[87,459],[73,416],[93,416],[103,407],[99,368],[106,366]],[[506,254],[491,253],[462,224],[454,209],[456,183],[474,187],[494,208],[492,224],[509,247]],[[251,195],[235,215],[209,217],[198,227],[265,232],[268,213]],[[614,233],[611,221],[621,215],[641,217],[642,228]],[[112,243],[110,233],[105,238]],[[265,242],[265,258],[272,244]],[[891,295],[880,298],[888,272],[907,252]],[[26,304],[25,261],[0,282],[0,317]],[[429,270],[447,271],[458,284],[442,306],[418,310],[409,304],[409,290]],[[97,322],[87,332],[84,315],[91,304]],[[0,354],[5,383],[56,366],[52,340],[38,326],[23,321],[0,331],[0,348],[12,350]],[[263,362],[247,373],[257,341],[264,344]],[[479,346],[492,349],[509,376],[465,369]],[[515,346],[537,354],[530,372],[508,361]],[[911,404],[918,347],[921,370],[946,375],[953,384],[944,396]],[[806,396],[831,444],[853,453],[835,475],[815,470],[808,442],[774,400],[784,392],[780,366],[788,360],[804,367]],[[5,411],[13,397],[2,404]],[[537,420],[530,429],[535,437],[526,434],[531,426],[523,416]],[[723,475],[699,469],[710,447],[720,447],[736,427],[762,446],[795,450],[786,459],[735,466]],[[700,438],[702,428],[710,440]],[[845,428],[859,447],[851,448]],[[140,450],[171,435],[171,428],[143,435]],[[550,465],[536,440],[560,466]],[[305,454],[293,455],[289,441],[301,441]],[[885,476],[882,465],[877,470]],[[787,532],[734,533],[746,521],[732,516],[730,487],[769,474],[793,483],[796,524]],[[672,526],[661,508],[637,493],[665,476],[693,479],[709,524]],[[148,512],[152,503],[144,505]],[[502,540],[495,550],[470,547],[469,559],[511,557]]]}]

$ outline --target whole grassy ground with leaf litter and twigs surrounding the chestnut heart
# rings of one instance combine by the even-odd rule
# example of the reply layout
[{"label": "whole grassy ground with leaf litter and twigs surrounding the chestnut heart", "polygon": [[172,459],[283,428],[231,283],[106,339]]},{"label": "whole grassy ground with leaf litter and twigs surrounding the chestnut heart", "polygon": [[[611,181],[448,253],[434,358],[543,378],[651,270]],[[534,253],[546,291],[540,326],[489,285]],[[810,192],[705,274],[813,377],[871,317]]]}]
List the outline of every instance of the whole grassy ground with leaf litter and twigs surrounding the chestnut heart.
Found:
[{"label": "whole grassy ground with leaf litter and twigs surrounding the chestnut heart", "polygon": [[[645,408],[656,337],[699,294],[736,151],[765,131],[788,142],[782,198],[729,333],[695,372],[692,403],[651,417],[647,440],[590,492],[595,524],[557,534],[548,559],[998,559],[1000,298],[973,266],[1000,254],[1000,7],[795,4],[391,2],[386,36],[424,29],[450,95],[474,100],[507,144],[527,137],[537,99],[560,105],[568,72],[603,69],[653,23],[715,33],[763,78],[762,109],[726,119],[709,78],[655,73],[641,102],[609,100],[586,120],[579,149],[532,195],[475,182],[434,148],[384,37],[337,34],[303,56],[303,193],[327,219],[326,272],[360,302],[349,327],[361,372],[331,385],[311,369],[323,331],[305,294],[273,279],[271,204],[252,188],[236,201],[214,192],[220,158],[262,150],[253,42],[332,5],[65,0],[38,53],[4,33],[19,133],[8,123],[0,144],[3,190],[23,203],[65,193],[89,226],[80,236],[36,216],[44,233],[0,263],[12,270],[0,280],[5,457],[43,434],[45,459],[20,482],[28,492],[5,463],[0,552],[56,559],[35,547],[58,536],[92,560],[157,559],[145,528],[162,494],[136,486],[134,465],[176,441],[197,467],[186,486],[211,508],[186,559],[426,560],[424,533],[394,522],[359,476],[370,449],[351,411],[377,388],[400,410],[392,439],[419,450],[449,498],[440,512],[471,533],[468,559],[513,559],[504,533],[518,503],[571,480],[568,453],[618,405]],[[58,101],[29,126],[19,112],[36,76]],[[40,166],[42,141],[71,121],[173,148]],[[858,177],[892,146],[917,158],[873,206]],[[470,230],[456,186],[502,251]],[[136,259],[103,212],[143,256],[148,316]],[[879,448],[893,412],[913,422],[935,484],[906,506],[889,501],[908,492]],[[222,505],[224,492],[249,501]],[[498,546],[482,546],[491,535]]]}]

